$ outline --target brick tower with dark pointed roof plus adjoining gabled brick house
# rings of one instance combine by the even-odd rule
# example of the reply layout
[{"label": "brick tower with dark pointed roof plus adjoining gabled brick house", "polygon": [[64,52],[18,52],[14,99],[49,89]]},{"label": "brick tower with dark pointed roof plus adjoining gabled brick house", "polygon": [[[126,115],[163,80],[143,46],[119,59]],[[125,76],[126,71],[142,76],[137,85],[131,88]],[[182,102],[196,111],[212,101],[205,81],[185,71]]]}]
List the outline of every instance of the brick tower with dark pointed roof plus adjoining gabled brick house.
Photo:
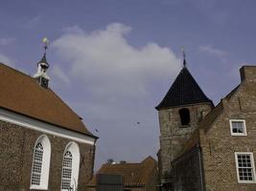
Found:
[{"label": "brick tower with dark pointed roof plus adjoining gabled brick house", "polygon": [[156,106],[163,191],[255,191],[256,66],[218,105],[183,68]]}]

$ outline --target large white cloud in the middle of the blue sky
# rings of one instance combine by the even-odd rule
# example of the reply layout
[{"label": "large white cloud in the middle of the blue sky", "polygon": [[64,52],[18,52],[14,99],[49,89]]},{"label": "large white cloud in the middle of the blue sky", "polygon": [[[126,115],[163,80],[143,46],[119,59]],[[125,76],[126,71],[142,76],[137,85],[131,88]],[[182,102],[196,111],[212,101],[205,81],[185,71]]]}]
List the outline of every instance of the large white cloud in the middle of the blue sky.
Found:
[{"label": "large white cloud in the middle of the blue sky", "polygon": [[69,64],[70,75],[96,94],[146,94],[147,82],[176,74],[179,68],[179,59],[168,48],[155,43],[141,48],[129,45],[125,38],[131,31],[128,26],[114,23],[88,34],[78,27],[70,29],[53,46]]}]

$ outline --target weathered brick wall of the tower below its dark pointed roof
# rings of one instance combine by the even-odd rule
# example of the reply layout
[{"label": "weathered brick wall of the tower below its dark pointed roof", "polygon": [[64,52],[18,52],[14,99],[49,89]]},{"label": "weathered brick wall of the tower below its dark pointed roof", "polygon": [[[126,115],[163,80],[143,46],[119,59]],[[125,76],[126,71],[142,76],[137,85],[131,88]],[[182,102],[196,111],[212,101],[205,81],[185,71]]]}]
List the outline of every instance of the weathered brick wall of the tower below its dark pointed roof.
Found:
[{"label": "weathered brick wall of the tower below its dark pointed roof", "polygon": [[[182,127],[180,123],[178,111],[181,108],[190,110],[191,122],[187,127]],[[195,104],[160,110],[158,112],[161,133],[161,150],[159,152],[159,160],[161,161],[159,166],[161,167],[160,172],[162,172],[160,175],[161,179],[166,178],[170,180],[171,162],[176,158],[186,140],[198,128],[198,121],[201,115],[205,116],[211,109],[210,104]]]}]

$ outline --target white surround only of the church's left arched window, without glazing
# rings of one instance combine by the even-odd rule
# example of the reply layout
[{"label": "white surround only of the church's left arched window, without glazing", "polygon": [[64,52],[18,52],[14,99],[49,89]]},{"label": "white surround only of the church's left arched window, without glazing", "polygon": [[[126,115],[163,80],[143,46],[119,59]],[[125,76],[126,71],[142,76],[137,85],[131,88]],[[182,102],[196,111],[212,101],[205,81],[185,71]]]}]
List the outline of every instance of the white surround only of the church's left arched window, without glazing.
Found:
[{"label": "white surround only of the church's left arched window, without glazing", "polygon": [[[33,178],[33,165],[35,161],[35,146],[38,143],[42,144],[43,156],[42,156],[42,166],[41,166],[41,173],[40,173],[40,184],[35,185],[35,184],[32,184],[32,178]],[[51,161],[51,142],[46,135],[42,135],[36,139],[35,146],[34,146],[34,152],[33,152],[30,189],[47,190],[48,182],[49,182],[50,161]]]}]

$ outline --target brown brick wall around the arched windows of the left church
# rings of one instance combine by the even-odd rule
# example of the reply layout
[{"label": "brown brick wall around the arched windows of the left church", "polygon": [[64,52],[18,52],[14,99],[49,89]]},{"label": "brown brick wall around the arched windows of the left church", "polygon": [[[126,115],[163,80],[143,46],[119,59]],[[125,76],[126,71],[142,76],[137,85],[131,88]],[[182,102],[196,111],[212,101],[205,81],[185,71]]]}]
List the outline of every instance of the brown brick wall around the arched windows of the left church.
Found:
[{"label": "brown brick wall around the arched windows of the left church", "polygon": [[[63,152],[68,142],[73,140],[3,121],[0,121],[0,190],[30,190],[35,140],[41,135],[50,139],[52,149],[48,190],[60,190]],[[76,143],[80,147],[81,158],[84,157],[79,174],[79,190],[86,190],[85,184],[91,179],[93,171],[94,146]]]}]

